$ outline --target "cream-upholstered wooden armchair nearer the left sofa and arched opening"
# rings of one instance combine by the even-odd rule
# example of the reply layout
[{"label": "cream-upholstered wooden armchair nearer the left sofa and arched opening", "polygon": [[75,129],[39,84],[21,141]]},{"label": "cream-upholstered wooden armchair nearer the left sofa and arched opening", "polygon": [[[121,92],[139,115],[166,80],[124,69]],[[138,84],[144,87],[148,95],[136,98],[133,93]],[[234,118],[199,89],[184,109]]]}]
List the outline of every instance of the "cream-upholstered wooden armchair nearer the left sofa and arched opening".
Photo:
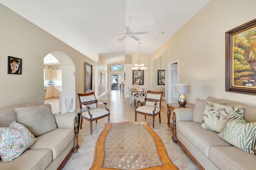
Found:
[{"label": "cream-upholstered wooden armchair nearer the left sofa and arched opening", "polygon": [[[98,119],[102,119],[108,116],[108,122],[110,120],[110,110],[106,107],[107,103],[98,101],[94,92],[90,93],[77,93],[80,109],[82,109],[82,119],[80,129],[82,129],[83,119],[90,122],[90,134],[92,135],[92,122]],[[105,105],[105,109],[98,108],[98,104]]]}]

